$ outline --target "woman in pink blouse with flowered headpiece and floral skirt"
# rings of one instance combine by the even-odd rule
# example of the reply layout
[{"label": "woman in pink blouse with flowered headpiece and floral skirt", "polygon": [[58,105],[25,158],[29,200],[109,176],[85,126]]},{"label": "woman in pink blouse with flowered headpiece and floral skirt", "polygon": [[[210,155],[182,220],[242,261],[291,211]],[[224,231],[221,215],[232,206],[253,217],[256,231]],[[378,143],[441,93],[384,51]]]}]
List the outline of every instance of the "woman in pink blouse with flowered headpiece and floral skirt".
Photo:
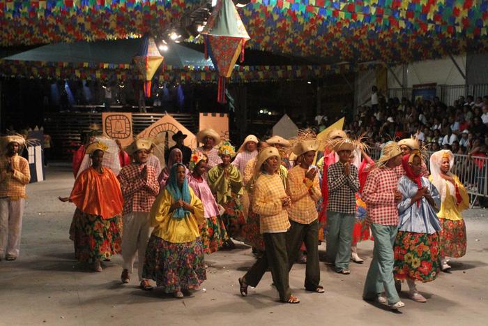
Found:
[{"label": "woman in pink blouse with flowered headpiece and floral skirt", "polygon": [[204,179],[207,157],[201,151],[194,151],[190,156],[190,171],[188,174],[188,185],[193,189],[195,195],[200,198],[204,205],[205,222],[200,228],[201,243],[205,253],[215,253],[229,236],[225,230],[225,225],[220,218],[219,207],[212,191]]}]

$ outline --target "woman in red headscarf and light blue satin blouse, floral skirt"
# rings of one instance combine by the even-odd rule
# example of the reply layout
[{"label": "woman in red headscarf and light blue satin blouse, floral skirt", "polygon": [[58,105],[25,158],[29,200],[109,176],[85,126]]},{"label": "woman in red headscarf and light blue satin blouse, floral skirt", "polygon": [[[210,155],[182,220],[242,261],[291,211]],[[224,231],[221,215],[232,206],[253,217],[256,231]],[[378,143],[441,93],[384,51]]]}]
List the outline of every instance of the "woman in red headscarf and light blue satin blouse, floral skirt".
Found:
[{"label": "woman in red headscarf and light blue satin blouse, floral skirt", "polygon": [[436,212],[441,196],[436,187],[422,177],[422,156],[413,151],[402,158],[405,175],[398,181],[402,201],[398,203],[399,224],[393,246],[395,265],[393,274],[397,291],[400,281],[406,279],[409,298],[415,302],[427,302],[415,281],[434,281],[439,274],[439,234],[441,224]]}]

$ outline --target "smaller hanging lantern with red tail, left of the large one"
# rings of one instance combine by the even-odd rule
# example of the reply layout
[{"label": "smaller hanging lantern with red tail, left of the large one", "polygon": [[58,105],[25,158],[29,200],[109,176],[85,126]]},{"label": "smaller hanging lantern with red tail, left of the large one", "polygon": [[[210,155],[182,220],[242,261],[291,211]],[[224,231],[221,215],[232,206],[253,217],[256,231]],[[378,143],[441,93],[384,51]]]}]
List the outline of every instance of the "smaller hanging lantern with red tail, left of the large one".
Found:
[{"label": "smaller hanging lantern with red tail, left of the large one", "polygon": [[146,97],[151,97],[151,80],[153,80],[154,73],[158,70],[163,59],[165,58],[160,54],[154,38],[145,35],[142,39],[141,48],[134,57],[134,63],[137,70],[144,76],[144,95]]}]

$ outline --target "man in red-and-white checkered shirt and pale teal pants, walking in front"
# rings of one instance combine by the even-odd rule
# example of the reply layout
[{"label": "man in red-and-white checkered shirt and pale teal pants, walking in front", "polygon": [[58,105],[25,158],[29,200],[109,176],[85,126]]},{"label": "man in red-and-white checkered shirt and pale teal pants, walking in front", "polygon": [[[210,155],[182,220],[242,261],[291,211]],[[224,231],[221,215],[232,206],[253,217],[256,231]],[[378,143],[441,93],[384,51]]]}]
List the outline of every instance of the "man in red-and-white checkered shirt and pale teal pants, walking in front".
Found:
[{"label": "man in red-and-white checkered shirt and pale teal pants, walking in front", "polygon": [[[402,195],[397,190],[395,167],[402,163],[402,151],[396,142],[388,142],[381,151],[376,168],[369,173],[363,189],[368,222],[374,237],[373,260],[367,272],[363,299],[390,304],[391,309],[405,306],[400,301],[393,279],[393,244],[397,236],[397,204]],[[386,299],[381,295],[386,292]]]}]

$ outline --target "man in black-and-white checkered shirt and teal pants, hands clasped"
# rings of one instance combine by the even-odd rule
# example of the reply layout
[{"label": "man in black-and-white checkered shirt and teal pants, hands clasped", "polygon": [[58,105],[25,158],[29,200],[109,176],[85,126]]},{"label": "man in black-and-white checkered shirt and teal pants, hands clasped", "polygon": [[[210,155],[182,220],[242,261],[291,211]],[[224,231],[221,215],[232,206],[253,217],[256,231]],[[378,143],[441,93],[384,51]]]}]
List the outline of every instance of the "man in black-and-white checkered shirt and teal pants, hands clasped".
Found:
[{"label": "man in black-and-white checkered shirt and teal pants, hands clasped", "polygon": [[335,272],[341,274],[351,274],[349,260],[356,222],[354,194],[359,190],[358,168],[349,163],[354,147],[348,138],[339,140],[334,147],[339,161],[331,164],[327,173],[329,202],[326,256],[328,262],[334,262]]}]

